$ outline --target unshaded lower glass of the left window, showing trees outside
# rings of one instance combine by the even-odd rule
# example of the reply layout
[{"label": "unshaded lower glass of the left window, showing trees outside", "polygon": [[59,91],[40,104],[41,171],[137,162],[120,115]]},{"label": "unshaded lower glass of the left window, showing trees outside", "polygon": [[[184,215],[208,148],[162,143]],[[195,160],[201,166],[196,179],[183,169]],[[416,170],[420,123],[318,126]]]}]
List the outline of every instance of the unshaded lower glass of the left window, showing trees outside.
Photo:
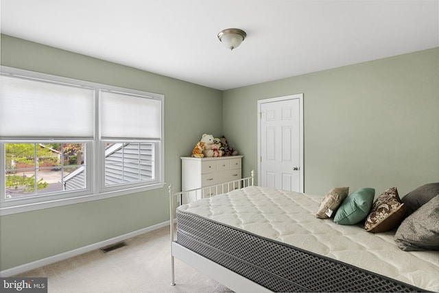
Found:
[{"label": "unshaded lower glass of the left window, showing trees outside", "polygon": [[85,143],[5,143],[5,200],[85,189]]}]

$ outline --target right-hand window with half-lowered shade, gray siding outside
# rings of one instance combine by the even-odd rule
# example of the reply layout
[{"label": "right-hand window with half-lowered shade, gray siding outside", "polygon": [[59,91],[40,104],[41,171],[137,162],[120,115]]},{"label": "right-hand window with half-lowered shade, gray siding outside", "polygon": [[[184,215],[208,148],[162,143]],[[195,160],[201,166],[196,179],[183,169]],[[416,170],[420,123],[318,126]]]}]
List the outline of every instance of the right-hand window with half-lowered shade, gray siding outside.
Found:
[{"label": "right-hand window with half-lowered shade, gray siding outside", "polygon": [[106,90],[100,91],[99,99],[106,158],[102,166],[104,189],[124,183],[156,181],[161,101]]}]

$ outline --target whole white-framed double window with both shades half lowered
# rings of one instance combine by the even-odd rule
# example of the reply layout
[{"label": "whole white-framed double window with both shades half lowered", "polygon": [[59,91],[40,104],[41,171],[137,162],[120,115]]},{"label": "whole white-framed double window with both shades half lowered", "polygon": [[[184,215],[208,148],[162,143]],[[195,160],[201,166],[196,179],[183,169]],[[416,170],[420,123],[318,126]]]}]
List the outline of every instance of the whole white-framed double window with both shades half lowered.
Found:
[{"label": "whole white-framed double window with both shades half lowered", "polygon": [[163,187],[163,95],[1,69],[1,214]]}]

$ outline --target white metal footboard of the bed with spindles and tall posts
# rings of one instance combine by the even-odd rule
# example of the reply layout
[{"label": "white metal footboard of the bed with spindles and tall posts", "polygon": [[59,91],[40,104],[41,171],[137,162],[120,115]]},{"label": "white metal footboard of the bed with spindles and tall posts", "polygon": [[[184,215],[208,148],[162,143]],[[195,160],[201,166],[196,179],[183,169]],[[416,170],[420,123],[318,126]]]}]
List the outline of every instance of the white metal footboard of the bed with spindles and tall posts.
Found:
[{"label": "white metal footboard of the bed with spindles and tall posts", "polygon": [[[175,285],[174,275],[174,255],[172,253],[172,243],[174,242],[174,220],[176,207],[183,204],[185,200],[190,202],[193,199],[209,198],[216,194],[225,194],[235,189],[241,189],[254,185],[254,171],[250,173],[249,177],[240,178],[226,183],[219,183],[217,185],[210,185],[197,189],[190,189],[185,191],[174,192],[174,187],[169,185],[169,230],[171,240],[171,285]],[[177,204],[177,205],[176,205]]]}]

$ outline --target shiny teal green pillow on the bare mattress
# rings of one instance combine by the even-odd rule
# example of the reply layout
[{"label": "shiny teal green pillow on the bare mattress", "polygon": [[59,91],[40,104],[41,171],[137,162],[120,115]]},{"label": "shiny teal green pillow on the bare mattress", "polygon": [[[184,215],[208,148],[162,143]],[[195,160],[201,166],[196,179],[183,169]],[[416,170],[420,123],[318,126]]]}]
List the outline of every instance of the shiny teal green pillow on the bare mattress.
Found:
[{"label": "shiny teal green pillow on the bare mattress", "polygon": [[372,208],[375,189],[361,188],[343,200],[335,213],[334,222],[341,225],[354,225],[364,220]]}]

